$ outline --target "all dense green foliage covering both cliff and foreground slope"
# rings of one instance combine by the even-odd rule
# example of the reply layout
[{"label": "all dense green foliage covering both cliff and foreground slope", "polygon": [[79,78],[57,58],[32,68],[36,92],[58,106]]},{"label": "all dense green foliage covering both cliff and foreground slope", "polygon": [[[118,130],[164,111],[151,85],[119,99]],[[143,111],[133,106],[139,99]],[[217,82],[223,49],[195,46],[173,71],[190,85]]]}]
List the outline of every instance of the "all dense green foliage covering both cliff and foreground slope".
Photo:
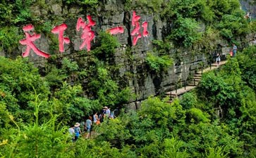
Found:
[{"label": "all dense green foliage covering both cliff and foreground slope", "polygon": [[[58,2],[95,12],[102,5],[97,0]],[[148,12],[159,13],[169,26],[162,40],[153,41],[153,52],[147,52],[145,64],[152,72],[161,73],[173,65],[169,55],[173,46],[202,44],[209,51],[213,49],[210,41],[238,42],[238,37],[256,32],[254,23],[243,18],[237,0],[126,0],[123,4],[125,12],[150,8]],[[35,6],[45,13],[35,14]],[[134,95],[126,87],[129,75],[116,75],[114,53],[119,44],[110,34],[97,34],[89,53],[56,53],[51,28],[65,16],[77,17],[72,13],[50,16],[50,6],[46,1],[0,4],[0,51],[16,51],[23,37],[19,30],[30,22],[51,41],[51,58],[44,68],[35,68],[26,58],[0,58],[0,157],[255,157],[255,46],[204,74],[195,91],[181,100],[166,103],[148,98],[137,112],[123,110],[115,119],[94,126],[92,139],[81,137],[72,143],[68,126],[84,121],[102,106],[122,107]],[[200,30],[202,25],[205,30]],[[131,53],[129,48],[126,55]]]}]

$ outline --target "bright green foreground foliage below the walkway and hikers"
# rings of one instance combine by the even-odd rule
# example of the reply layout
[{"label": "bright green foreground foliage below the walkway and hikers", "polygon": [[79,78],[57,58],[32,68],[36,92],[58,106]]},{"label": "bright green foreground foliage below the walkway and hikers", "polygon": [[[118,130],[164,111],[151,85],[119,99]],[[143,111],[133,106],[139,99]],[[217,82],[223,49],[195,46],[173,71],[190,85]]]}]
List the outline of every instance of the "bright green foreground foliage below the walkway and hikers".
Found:
[{"label": "bright green foreground foliage below the walkway and hikers", "polygon": [[78,120],[79,112],[90,112],[96,100],[80,98],[79,87],[66,83],[51,94],[47,78],[39,77],[25,59],[1,58],[0,155],[254,157],[256,73],[248,68],[255,67],[254,50],[247,48],[219,70],[204,74],[198,88],[181,100],[170,104],[148,98],[138,112],[106,119],[95,126],[93,139],[76,143],[63,124],[68,118]]}]

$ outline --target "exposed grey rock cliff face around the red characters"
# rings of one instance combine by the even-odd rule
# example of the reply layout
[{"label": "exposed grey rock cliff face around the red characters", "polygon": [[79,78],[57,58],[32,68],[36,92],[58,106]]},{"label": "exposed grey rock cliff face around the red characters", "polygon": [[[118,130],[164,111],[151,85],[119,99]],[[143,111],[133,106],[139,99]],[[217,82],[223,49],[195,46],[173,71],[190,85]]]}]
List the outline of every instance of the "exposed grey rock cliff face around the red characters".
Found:
[{"label": "exposed grey rock cliff face around the red characters", "polygon": [[[59,17],[59,21],[56,22],[59,25],[63,22],[66,23],[68,28],[65,30],[65,37],[68,37],[71,41],[70,44],[64,44],[65,52],[62,53],[64,56],[72,58],[77,51],[80,51],[80,45],[82,44],[82,31],[75,29],[77,20],[79,17],[83,20],[87,20],[87,15],[83,8],[78,6],[71,6],[67,8],[61,3],[54,3],[54,1],[48,1],[49,6],[46,8],[38,8],[33,6],[33,14],[37,16],[45,16],[47,18]],[[147,52],[153,51],[153,40],[162,40],[166,37],[168,32],[171,32],[171,22],[161,21],[159,14],[135,10],[136,15],[140,15],[140,32],[142,33],[142,22],[147,22],[147,31],[149,36],[138,39],[138,42],[133,46],[133,38],[131,32],[135,27],[132,26],[133,11],[124,11],[123,1],[111,0],[106,1],[104,6],[101,6],[97,11],[97,14],[92,14],[92,20],[95,20],[96,25],[91,27],[92,31],[95,32],[96,38],[91,42],[92,49],[97,40],[97,34],[100,31],[106,31],[113,27],[123,27],[124,32],[122,34],[115,34],[118,42],[121,44],[116,48],[114,54],[114,62],[118,65],[118,72],[116,75],[124,77],[127,74],[131,74],[126,80],[127,86],[129,86],[136,98],[131,100],[131,108],[136,108],[137,103],[140,100],[144,100],[149,96],[156,96],[161,92],[171,90],[174,84],[178,81],[185,81],[190,75],[193,75],[195,71],[202,68],[202,63],[206,67],[209,62],[212,62],[213,55],[217,52],[222,55],[226,55],[230,49],[228,44],[221,39],[214,39],[209,42],[211,49],[205,49],[205,46],[196,44],[190,48],[171,48],[169,54],[174,59],[173,66],[169,67],[166,72],[156,73],[148,69],[145,62]],[[44,22],[47,21],[47,18]],[[43,22],[43,23],[44,23]],[[42,24],[43,25],[43,24]],[[37,26],[35,26],[37,27]],[[21,30],[21,28],[20,28]],[[200,25],[200,32],[205,31],[205,25]],[[57,37],[55,34],[54,36]],[[44,52],[51,52],[51,41],[49,36],[41,34],[41,38],[35,41],[35,45]],[[83,48],[86,50],[86,46]],[[207,51],[208,50],[208,51]],[[25,51],[25,46],[19,47],[19,51],[16,54],[21,54]],[[4,53],[1,53],[4,55]],[[47,59],[39,57],[34,52],[30,51],[28,57],[35,65],[44,67],[44,63]],[[133,60],[131,60],[133,58]]]}]

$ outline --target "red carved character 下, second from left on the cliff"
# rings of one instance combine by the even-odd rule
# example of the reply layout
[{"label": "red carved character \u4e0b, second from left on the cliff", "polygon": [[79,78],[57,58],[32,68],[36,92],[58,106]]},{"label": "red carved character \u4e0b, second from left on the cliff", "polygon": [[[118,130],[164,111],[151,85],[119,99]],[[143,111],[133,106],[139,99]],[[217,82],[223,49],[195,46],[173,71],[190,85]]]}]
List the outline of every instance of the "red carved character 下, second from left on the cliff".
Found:
[{"label": "red carved character \u4e0b, second from left on the cliff", "polygon": [[59,26],[54,27],[51,29],[51,32],[54,34],[59,34],[59,51],[61,53],[64,52],[64,44],[69,44],[71,41],[68,39],[68,37],[63,37],[63,32],[65,29],[67,29],[68,26],[66,24],[61,24]]}]

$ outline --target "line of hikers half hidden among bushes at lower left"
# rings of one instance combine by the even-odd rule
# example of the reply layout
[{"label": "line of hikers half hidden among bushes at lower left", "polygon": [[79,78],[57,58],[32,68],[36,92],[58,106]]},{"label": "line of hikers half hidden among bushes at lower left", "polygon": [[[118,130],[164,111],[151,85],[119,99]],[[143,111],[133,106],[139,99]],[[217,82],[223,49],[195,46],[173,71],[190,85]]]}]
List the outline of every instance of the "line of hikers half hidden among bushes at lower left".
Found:
[{"label": "line of hikers half hidden among bushes at lower left", "polygon": [[[81,124],[77,122],[75,123],[75,125],[70,126],[70,128],[68,129],[68,132],[71,136],[72,142],[75,142],[76,140],[78,140],[80,135],[84,132],[86,133],[85,138],[90,138],[92,126],[99,125],[106,118],[114,119],[115,111],[116,110],[111,112],[110,108],[105,106],[103,107],[102,112],[99,115],[98,115],[98,112],[95,112],[95,114],[93,114],[92,117],[89,116],[86,119],[86,121],[82,121]],[[80,129],[80,126],[83,128],[82,130]]]}]

